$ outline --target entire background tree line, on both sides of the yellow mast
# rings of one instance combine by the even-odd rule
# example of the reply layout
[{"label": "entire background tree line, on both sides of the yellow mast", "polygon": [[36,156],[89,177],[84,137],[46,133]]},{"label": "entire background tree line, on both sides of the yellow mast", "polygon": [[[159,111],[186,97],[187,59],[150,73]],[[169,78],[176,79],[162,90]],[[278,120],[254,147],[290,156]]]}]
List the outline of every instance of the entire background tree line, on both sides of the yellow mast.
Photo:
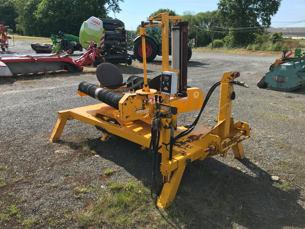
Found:
[{"label": "entire background tree line, on both sides of the yellow mast", "polygon": [[[228,46],[250,44],[267,36],[266,28],[281,1],[219,0],[217,10],[185,11],[182,16],[189,22],[189,38],[197,36],[197,45],[210,44],[213,29],[214,39]],[[90,16],[109,18],[110,11],[121,11],[120,2],[123,0],[0,0],[0,22],[21,35],[48,37],[63,31],[78,36],[84,20]],[[163,12],[178,16],[171,9],[159,9],[151,16]]]}]

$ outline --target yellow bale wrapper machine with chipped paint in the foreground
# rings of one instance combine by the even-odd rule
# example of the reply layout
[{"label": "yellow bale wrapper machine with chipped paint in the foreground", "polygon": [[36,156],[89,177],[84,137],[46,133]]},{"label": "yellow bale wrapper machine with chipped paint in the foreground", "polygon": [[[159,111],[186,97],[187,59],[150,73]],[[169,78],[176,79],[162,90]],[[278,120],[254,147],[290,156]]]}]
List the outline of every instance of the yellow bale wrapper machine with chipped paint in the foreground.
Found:
[{"label": "yellow bale wrapper machine with chipped paint in the foreground", "polygon": [[[160,23],[152,23],[156,20]],[[171,68],[168,55],[169,20],[173,21]],[[109,78],[123,82],[122,74],[118,74],[114,65],[100,64],[103,69],[97,69],[100,84],[81,82],[77,93],[80,96],[89,95],[102,103],[59,111],[50,138],[52,142],[59,140],[66,121],[77,119],[101,130],[104,133],[102,141],[111,133],[140,144],[142,148],[149,148],[153,155],[152,196],[159,166],[163,177],[164,185],[157,202],[160,208],[172,205],[187,164],[217,154],[224,157],[229,148],[233,149],[235,158],[243,159],[245,156],[241,142],[250,136],[246,122],[234,123],[231,118],[231,103],[235,99],[233,85],[248,87],[244,82],[235,81],[239,72],[226,72],[221,81],[212,86],[205,99],[199,88],[187,86],[188,22],[182,20],[182,16],[160,13],[149,19],[150,24],[144,25],[142,22],[139,34],[142,36],[142,47],[145,47],[145,27],[162,28],[161,75],[150,81],[147,79],[145,48],[143,78],[131,76],[124,84],[109,84]],[[219,85],[218,123],[213,127],[203,125],[198,122],[200,115]],[[196,110],[200,112],[193,123],[186,123],[177,117],[179,113]],[[162,155],[160,165],[157,165],[158,153]]]}]

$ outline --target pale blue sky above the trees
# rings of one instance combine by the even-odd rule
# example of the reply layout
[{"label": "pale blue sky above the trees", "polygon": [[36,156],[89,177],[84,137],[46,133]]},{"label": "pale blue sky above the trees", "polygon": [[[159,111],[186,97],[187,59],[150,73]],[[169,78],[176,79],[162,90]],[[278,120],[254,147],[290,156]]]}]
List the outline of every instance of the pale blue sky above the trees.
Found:
[{"label": "pale blue sky above the trees", "polygon": [[[180,15],[184,11],[193,11],[196,14],[216,10],[218,2],[218,0],[125,0],[119,4],[122,11],[115,15],[111,12],[109,16],[123,21],[126,29],[135,30],[141,21],[145,21],[149,14],[160,8],[175,10]],[[282,0],[278,12],[271,17],[271,26],[305,27],[304,2],[304,0]],[[295,23],[299,21],[303,22]]]}]

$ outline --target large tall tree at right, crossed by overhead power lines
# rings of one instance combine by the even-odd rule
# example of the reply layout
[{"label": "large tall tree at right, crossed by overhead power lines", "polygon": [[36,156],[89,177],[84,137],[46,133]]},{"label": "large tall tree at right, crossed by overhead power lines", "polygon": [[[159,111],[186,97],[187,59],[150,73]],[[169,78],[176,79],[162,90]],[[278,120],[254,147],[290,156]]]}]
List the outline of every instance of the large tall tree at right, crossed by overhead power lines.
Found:
[{"label": "large tall tree at right, crossed by overhead power lines", "polygon": [[[218,18],[224,27],[269,27],[271,16],[276,14],[282,0],[220,0]],[[228,45],[252,43],[252,31],[230,31]]]}]

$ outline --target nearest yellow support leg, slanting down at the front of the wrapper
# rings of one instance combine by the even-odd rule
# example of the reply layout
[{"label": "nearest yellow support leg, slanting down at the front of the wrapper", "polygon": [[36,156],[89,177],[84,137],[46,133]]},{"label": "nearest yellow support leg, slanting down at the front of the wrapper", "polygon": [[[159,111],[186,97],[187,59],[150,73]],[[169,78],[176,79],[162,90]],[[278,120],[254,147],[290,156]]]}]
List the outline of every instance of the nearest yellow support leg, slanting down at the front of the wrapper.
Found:
[{"label": "nearest yellow support leg, slanting down at the front of the wrapper", "polygon": [[168,208],[173,204],[185,166],[174,170],[174,175],[164,184],[157,205],[160,208]]}]

